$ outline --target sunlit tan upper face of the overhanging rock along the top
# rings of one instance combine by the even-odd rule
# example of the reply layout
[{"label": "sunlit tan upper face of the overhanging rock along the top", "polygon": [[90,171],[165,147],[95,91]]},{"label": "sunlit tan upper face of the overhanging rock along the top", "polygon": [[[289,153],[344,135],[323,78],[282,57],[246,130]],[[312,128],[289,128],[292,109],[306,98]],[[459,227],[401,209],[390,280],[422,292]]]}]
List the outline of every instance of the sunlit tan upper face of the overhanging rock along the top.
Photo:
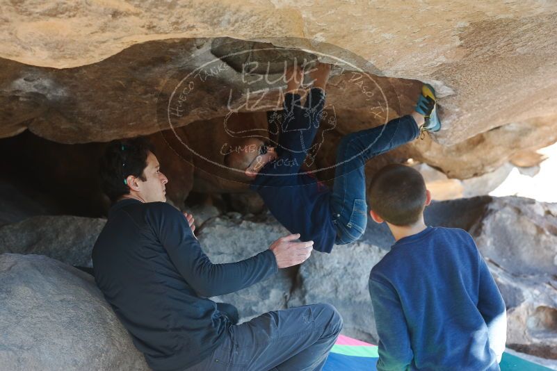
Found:
[{"label": "sunlit tan upper face of the overhanging rock along the top", "polygon": [[321,53],[330,48],[319,42],[339,45],[385,76],[432,81],[450,94],[444,108],[454,125],[442,137],[453,144],[556,113],[545,100],[555,99],[557,76],[551,2],[13,3],[5,12],[0,56],[54,68],[98,64],[141,42],[170,38],[227,35]]}]

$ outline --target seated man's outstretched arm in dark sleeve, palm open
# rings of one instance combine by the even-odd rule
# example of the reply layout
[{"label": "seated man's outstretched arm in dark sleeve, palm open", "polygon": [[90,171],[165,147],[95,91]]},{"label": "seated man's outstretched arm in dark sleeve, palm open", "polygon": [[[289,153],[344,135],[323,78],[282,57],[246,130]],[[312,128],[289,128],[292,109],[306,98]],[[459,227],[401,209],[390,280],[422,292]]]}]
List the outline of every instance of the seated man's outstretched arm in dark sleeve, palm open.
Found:
[{"label": "seated man's outstretched arm in dark sleeve, palm open", "polygon": [[280,238],[271,247],[237,263],[213,264],[202,252],[188,221],[176,208],[160,203],[152,223],[170,260],[191,287],[204,297],[246,288],[275,274],[278,268],[297,265],[309,258],[313,242],[293,242],[299,235]]}]

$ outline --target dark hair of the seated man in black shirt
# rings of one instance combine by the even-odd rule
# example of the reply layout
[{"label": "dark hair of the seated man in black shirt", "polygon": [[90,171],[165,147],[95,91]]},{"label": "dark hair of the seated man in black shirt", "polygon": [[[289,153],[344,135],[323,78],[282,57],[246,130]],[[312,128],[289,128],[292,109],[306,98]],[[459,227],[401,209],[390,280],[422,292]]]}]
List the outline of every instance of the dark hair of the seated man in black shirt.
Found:
[{"label": "dark hair of the seated man in black shirt", "polygon": [[149,152],[154,153],[154,147],[143,137],[113,140],[106,145],[99,164],[99,177],[102,190],[113,204],[129,194],[125,183],[128,176],[147,180],[143,170],[147,167]]}]

